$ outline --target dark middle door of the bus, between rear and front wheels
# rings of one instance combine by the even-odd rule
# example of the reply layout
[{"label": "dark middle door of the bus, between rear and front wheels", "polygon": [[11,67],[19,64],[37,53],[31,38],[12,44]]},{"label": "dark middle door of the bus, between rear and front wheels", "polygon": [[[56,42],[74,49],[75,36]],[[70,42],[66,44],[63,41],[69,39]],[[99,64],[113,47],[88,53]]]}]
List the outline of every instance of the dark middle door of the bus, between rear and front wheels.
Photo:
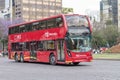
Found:
[{"label": "dark middle door of the bus, between rear and front wheels", "polygon": [[31,42],[30,43],[30,59],[31,60],[36,60],[37,59],[37,53],[36,53],[36,42]]}]

